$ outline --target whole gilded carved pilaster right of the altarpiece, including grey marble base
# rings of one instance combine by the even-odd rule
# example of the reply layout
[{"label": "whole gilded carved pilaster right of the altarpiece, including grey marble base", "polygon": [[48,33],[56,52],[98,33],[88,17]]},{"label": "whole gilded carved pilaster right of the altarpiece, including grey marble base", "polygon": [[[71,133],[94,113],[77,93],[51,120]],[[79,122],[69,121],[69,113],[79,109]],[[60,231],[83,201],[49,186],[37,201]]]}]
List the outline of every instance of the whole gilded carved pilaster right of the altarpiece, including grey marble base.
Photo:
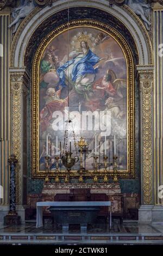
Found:
[{"label": "whole gilded carved pilaster right of the altarpiece, including grey marble base", "polygon": [[153,197],[153,65],[137,66],[141,112],[141,206],[139,221],[152,221]]}]

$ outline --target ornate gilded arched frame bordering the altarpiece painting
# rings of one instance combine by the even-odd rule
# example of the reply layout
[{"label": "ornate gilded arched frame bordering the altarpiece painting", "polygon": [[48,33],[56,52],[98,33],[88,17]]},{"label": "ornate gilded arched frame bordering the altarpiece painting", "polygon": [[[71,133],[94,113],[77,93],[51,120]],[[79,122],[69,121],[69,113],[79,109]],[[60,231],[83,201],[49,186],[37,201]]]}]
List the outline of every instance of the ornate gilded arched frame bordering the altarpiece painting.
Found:
[{"label": "ornate gilded arched frame bordering the altarpiece painting", "polygon": [[[114,28],[105,25],[101,22],[93,20],[78,20],[65,23],[60,27],[54,29],[49,33],[46,38],[41,42],[35,53],[32,71],[32,177],[44,178],[45,171],[39,170],[39,63],[43,50],[49,42],[60,33],[74,27],[94,27],[98,28],[114,38],[121,46],[124,56],[127,60],[127,76],[128,76],[128,168],[127,170],[118,171],[118,176],[121,178],[134,178],[135,177],[135,104],[134,104],[134,63],[133,57],[126,40]],[[54,172],[49,175],[54,176]],[[65,172],[60,172],[61,176]],[[77,176],[77,172],[72,171],[71,176]],[[110,171],[110,176],[113,173]]]}]

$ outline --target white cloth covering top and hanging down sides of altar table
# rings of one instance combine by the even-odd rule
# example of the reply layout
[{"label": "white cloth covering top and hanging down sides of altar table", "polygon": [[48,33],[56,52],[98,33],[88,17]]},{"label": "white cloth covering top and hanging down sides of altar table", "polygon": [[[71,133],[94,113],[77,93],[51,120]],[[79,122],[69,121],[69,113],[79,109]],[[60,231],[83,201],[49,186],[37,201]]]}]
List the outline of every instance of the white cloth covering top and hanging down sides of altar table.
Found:
[{"label": "white cloth covering top and hanging down sides of altar table", "polygon": [[[110,206],[110,228],[111,228],[111,202],[110,201],[101,201],[101,202],[37,202],[36,203],[36,228],[42,227],[42,208],[43,206],[56,206],[56,207],[66,207],[66,208],[74,208],[79,207],[86,207],[91,208],[91,206]],[[108,208],[109,212],[109,208]]]}]

